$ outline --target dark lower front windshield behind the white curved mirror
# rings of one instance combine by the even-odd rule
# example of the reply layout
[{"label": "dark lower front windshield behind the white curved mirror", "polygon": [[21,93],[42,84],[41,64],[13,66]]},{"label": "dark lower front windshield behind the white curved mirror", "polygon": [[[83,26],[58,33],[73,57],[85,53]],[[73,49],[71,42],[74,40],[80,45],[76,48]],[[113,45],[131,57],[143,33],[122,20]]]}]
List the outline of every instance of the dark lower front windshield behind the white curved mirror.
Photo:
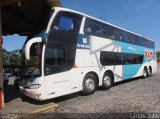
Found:
[{"label": "dark lower front windshield behind the white curved mirror", "polygon": [[24,75],[29,77],[41,76],[42,44],[34,43],[30,50],[30,60],[24,60]]}]

